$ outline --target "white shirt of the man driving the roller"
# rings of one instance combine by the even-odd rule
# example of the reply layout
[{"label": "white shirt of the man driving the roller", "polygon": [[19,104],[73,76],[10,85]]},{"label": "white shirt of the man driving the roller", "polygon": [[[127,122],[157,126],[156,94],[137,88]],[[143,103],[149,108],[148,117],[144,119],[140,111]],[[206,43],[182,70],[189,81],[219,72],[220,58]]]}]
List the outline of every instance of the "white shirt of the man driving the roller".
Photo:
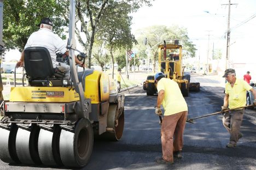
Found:
[{"label": "white shirt of the man driving the roller", "polygon": [[27,40],[27,47],[45,47],[50,52],[51,62],[55,68],[56,63],[56,51],[59,50],[62,54],[66,52],[66,43],[56,34],[50,31],[48,28],[40,28],[37,32],[30,35]]}]

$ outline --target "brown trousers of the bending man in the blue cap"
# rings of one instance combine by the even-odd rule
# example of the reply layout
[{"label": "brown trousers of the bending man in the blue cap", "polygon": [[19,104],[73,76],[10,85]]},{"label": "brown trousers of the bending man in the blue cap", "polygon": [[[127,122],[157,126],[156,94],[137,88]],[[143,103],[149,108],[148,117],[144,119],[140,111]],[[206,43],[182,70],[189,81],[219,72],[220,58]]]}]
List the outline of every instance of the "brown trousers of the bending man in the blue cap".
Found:
[{"label": "brown trousers of the bending man in the blue cap", "polygon": [[173,151],[183,148],[183,132],[188,111],[164,116],[161,127],[162,159],[173,161]]}]

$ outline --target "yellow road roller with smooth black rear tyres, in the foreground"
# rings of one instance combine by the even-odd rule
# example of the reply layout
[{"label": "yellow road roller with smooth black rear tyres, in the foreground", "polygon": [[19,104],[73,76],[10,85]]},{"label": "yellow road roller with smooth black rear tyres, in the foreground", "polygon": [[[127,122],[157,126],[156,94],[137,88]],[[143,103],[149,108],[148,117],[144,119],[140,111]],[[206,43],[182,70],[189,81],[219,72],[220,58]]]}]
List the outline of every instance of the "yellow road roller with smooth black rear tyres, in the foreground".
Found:
[{"label": "yellow road roller with smooth black rear tyres, in the foreground", "polygon": [[[9,101],[1,94],[3,162],[83,167],[89,162],[95,136],[119,141],[123,135],[124,94],[116,93],[107,74],[75,67],[75,1],[69,3],[71,81],[55,74],[45,47],[25,49],[30,86],[11,87]],[[2,14],[3,0],[0,9]]]}]

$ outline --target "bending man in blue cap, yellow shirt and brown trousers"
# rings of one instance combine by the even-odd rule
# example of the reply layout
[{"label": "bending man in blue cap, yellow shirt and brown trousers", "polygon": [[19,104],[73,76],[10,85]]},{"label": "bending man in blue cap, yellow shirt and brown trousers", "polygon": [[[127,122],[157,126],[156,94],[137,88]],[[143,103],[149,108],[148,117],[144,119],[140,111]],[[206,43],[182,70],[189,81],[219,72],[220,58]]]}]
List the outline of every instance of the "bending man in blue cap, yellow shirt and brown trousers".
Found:
[{"label": "bending man in blue cap, yellow shirt and brown trousers", "polygon": [[173,164],[173,156],[182,158],[183,132],[187,120],[188,106],[178,83],[170,78],[165,78],[162,72],[155,74],[155,81],[158,88],[155,113],[161,116],[161,105],[165,110],[161,125],[162,157],[156,157],[155,161]]}]

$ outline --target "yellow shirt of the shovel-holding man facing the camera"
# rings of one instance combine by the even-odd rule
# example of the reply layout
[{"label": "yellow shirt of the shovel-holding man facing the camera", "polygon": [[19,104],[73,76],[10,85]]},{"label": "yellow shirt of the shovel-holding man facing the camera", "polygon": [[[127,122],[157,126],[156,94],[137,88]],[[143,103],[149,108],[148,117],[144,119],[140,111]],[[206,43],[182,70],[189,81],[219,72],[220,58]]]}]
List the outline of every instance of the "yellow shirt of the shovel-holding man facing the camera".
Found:
[{"label": "yellow shirt of the shovel-holding man facing the camera", "polygon": [[225,93],[229,94],[229,108],[242,107],[246,105],[246,91],[251,90],[251,86],[241,79],[236,78],[233,87],[230,83],[226,83]]}]

